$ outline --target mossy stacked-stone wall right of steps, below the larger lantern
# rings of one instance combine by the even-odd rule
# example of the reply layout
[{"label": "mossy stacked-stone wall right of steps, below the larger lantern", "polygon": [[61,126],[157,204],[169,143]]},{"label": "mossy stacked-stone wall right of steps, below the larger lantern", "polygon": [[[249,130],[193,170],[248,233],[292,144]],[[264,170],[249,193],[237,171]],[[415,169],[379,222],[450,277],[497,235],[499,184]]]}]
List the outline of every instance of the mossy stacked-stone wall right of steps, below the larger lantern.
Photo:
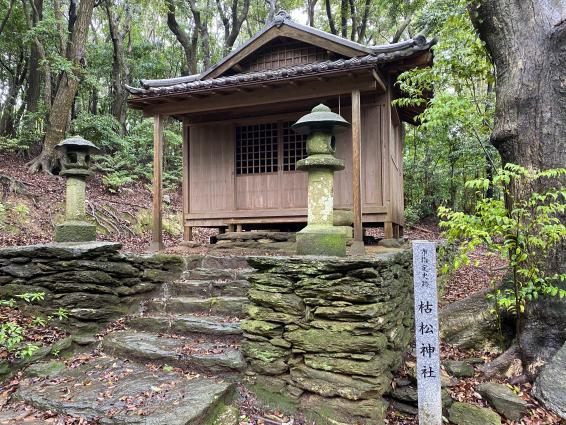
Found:
[{"label": "mossy stacked-stone wall right of steps, below the larger lantern", "polygon": [[256,395],[317,423],[383,423],[412,335],[410,253],[248,262],[242,351]]}]

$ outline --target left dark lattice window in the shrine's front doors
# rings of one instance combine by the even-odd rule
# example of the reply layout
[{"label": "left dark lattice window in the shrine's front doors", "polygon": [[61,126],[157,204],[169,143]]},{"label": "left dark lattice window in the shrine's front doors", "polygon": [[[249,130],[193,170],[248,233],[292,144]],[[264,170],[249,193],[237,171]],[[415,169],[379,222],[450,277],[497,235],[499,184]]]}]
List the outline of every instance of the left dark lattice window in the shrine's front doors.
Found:
[{"label": "left dark lattice window in the shrine's front doors", "polygon": [[277,172],[277,123],[236,127],[236,174]]}]

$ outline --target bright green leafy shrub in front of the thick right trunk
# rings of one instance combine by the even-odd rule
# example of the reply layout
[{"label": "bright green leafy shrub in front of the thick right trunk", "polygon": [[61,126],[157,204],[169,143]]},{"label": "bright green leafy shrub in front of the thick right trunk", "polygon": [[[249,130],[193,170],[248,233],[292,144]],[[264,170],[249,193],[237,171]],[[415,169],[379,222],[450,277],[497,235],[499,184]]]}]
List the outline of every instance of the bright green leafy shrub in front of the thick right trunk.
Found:
[{"label": "bright green leafy shrub in front of the thick right trunk", "polygon": [[[566,296],[559,287],[566,274],[548,270],[546,259],[566,239],[560,221],[566,212],[566,188],[561,179],[566,169],[533,171],[507,164],[492,181],[467,183],[483,195],[490,185],[505,195],[503,199],[482,196],[473,214],[439,208],[449,242],[459,242],[453,267],[469,264],[468,253],[478,245],[509,262],[508,289],[496,290],[492,297],[498,307],[516,315],[517,337],[527,302],[539,296]],[[543,187],[537,192],[534,187]],[[521,341],[518,341],[519,346]]]}]

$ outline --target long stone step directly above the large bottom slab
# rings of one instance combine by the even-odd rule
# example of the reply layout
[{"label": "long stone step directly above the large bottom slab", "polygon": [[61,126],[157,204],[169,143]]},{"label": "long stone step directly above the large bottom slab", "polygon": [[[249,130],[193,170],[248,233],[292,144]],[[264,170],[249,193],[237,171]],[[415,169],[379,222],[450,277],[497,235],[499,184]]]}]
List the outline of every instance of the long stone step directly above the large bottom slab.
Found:
[{"label": "long stone step directly above the large bottom slab", "polygon": [[169,338],[133,330],[104,337],[105,353],[142,362],[155,362],[210,374],[238,372],[245,361],[236,341],[203,342],[196,338]]}]

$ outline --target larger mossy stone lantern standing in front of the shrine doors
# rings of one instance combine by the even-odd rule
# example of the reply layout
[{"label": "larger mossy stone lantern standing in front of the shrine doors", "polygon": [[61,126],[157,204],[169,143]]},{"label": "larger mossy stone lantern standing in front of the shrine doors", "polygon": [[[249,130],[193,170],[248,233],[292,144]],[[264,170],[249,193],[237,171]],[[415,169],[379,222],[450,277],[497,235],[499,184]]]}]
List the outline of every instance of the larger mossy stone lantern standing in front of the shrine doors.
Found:
[{"label": "larger mossy stone lantern standing in front of the shrine doors", "polygon": [[292,126],[296,132],[309,135],[308,156],[296,165],[297,170],[308,172],[307,227],[297,233],[297,254],[346,255],[346,234],[333,225],[334,172],[344,169],[344,161],[334,156],[334,134],[349,126],[323,104]]}]

